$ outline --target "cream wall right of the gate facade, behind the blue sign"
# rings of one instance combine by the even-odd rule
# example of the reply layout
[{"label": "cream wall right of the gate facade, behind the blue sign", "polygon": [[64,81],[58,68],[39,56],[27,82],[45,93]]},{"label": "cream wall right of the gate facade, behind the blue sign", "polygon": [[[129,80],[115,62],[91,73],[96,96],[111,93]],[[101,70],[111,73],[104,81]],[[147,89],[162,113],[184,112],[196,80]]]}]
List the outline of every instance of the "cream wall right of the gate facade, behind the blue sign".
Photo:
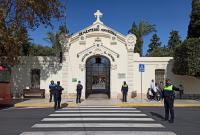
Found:
[{"label": "cream wall right of the gate facade, behind the blue sign", "polygon": [[169,78],[172,83],[179,87],[180,84],[184,87],[185,94],[200,94],[200,79],[190,76],[175,75],[172,72],[173,58],[172,57],[139,57],[134,55],[134,90],[140,95],[141,93],[141,72],[139,72],[139,64],[145,65],[145,72],[142,73],[142,92],[145,94],[150,87],[152,79],[155,80],[155,70],[164,69],[165,78]]}]

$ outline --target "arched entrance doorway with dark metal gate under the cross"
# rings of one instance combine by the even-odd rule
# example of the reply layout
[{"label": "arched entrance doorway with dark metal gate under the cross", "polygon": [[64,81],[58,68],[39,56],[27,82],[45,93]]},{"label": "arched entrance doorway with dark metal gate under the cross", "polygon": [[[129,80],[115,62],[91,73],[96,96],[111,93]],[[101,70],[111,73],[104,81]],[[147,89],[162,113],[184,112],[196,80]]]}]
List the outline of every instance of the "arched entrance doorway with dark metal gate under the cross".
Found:
[{"label": "arched entrance doorway with dark metal gate under the cross", "polygon": [[97,93],[107,94],[110,98],[110,60],[101,55],[86,60],[85,97]]}]

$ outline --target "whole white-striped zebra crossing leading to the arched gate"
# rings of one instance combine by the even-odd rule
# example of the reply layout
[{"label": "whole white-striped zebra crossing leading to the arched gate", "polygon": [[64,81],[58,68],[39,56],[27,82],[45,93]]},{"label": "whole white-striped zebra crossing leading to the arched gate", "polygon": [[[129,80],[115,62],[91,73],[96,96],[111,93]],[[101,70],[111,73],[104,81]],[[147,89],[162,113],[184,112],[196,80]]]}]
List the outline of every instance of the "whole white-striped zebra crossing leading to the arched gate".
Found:
[{"label": "whole white-striped zebra crossing leading to the arched gate", "polygon": [[20,135],[176,135],[136,108],[81,106],[63,108]]}]

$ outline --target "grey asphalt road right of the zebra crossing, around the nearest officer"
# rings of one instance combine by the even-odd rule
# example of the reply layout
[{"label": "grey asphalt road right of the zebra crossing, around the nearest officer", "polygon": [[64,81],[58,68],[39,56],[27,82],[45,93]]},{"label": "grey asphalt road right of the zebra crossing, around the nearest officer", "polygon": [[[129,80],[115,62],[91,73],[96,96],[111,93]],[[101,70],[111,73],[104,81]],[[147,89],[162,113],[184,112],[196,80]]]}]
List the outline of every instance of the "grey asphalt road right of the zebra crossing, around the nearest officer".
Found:
[{"label": "grey asphalt road right of the zebra crossing, around the nearest officer", "polygon": [[163,121],[164,109],[162,107],[140,107],[138,109],[156,121],[160,121],[167,130],[178,135],[200,135],[200,108],[175,108],[173,124]]}]

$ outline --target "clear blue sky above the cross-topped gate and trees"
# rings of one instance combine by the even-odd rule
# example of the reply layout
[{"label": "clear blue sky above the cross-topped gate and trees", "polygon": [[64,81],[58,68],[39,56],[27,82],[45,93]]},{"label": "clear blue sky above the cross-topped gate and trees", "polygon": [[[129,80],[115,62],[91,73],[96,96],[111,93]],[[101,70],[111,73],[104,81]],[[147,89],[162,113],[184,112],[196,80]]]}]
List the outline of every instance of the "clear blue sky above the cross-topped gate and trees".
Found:
[{"label": "clear blue sky above the cross-topped gate and trees", "polygon": [[[104,15],[105,25],[126,35],[132,23],[141,20],[156,25],[157,34],[163,44],[167,44],[169,32],[178,30],[181,39],[187,35],[192,0],[67,0],[67,27],[70,33],[91,25],[94,12],[99,9]],[[48,45],[44,40],[46,33],[56,32],[59,22],[53,20],[54,28],[40,26],[29,35],[36,44]],[[152,34],[144,38],[144,53],[148,49]]]}]

